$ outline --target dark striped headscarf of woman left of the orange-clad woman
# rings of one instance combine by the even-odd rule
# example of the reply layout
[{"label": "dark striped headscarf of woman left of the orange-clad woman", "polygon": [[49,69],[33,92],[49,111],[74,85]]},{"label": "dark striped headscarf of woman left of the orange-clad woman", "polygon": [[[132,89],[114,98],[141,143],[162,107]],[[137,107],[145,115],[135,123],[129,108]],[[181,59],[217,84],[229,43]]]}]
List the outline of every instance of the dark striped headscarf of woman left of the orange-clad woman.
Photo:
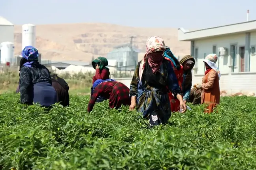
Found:
[{"label": "dark striped headscarf of woman left of the orange-clad woman", "polygon": [[[184,56],[181,59],[180,64],[183,65],[184,62],[186,62],[187,60],[192,60],[194,62],[194,65],[195,65],[196,61],[190,55]],[[192,67],[189,70],[183,71],[183,73],[186,75],[186,78],[185,78],[185,80],[183,82],[183,84],[184,84],[184,87],[183,87],[184,89],[183,90],[187,90],[188,88],[191,88],[191,86],[192,86],[192,72],[191,71],[192,71],[192,68],[194,67],[194,65],[192,65]]]}]

